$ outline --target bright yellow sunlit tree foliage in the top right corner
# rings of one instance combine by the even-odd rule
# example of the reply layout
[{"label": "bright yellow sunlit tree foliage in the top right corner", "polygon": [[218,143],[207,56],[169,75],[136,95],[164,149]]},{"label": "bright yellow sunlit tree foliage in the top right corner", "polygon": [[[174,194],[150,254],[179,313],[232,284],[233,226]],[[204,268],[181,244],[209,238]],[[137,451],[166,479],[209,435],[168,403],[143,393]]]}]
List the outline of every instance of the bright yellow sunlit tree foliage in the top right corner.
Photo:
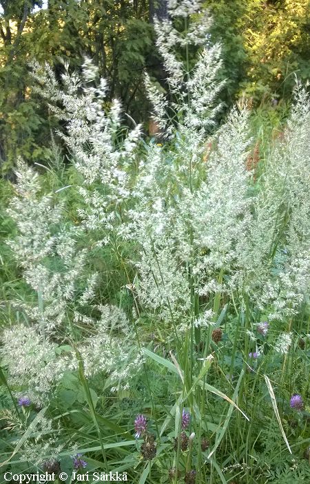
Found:
[{"label": "bright yellow sunlit tree foliage in the top right corner", "polygon": [[309,1],[249,1],[243,24],[247,78],[240,83],[255,101],[290,97],[294,74],[309,69]]}]

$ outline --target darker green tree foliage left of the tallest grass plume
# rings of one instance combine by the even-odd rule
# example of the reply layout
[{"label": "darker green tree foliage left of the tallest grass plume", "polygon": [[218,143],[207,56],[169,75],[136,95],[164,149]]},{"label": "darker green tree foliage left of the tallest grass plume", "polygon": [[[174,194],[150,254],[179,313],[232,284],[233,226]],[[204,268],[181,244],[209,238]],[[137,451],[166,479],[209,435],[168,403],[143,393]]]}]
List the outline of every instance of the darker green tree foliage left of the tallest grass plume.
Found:
[{"label": "darker green tree foliage left of the tallest grass plume", "polygon": [[26,10],[23,1],[14,2],[14,8],[12,2],[2,4],[0,166],[3,175],[10,173],[18,156],[31,162],[46,158],[50,131],[59,127],[32,90],[34,81],[29,63],[33,59],[54,65],[60,76],[64,62],[70,61],[72,68],[78,69],[83,56],[89,56],[109,81],[108,101],[121,98],[126,112],[135,118],[146,115],[142,76],[152,48],[152,27],[145,2],[50,0],[48,8],[39,11],[32,8],[40,2],[33,2]]}]

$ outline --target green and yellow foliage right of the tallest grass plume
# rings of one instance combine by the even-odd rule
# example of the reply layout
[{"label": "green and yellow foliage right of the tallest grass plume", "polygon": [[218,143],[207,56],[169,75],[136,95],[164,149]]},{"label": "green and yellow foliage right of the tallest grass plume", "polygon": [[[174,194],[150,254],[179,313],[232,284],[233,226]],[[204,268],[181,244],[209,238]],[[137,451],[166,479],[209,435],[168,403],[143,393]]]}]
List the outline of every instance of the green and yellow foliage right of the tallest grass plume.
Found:
[{"label": "green and yellow foliage right of the tallest grass plume", "polygon": [[212,1],[213,39],[223,43],[227,101],[246,94],[258,104],[267,97],[289,98],[294,74],[309,70],[309,1]]}]

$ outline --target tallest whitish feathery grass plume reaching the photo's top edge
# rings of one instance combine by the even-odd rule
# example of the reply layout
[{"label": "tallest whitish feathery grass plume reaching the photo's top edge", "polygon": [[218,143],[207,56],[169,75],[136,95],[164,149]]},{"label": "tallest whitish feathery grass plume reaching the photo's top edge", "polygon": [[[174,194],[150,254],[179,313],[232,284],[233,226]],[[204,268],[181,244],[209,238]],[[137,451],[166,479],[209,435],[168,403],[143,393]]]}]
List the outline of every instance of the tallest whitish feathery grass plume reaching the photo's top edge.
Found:
[{"label": "tallest whitish feathery grass plume reaching the photo's top edge", "polygon": [[[209,28],[211,20],[207,14],[198,15],[199,1],[168,2],[170,19],[154,18],[156,47],[163,58],[167,72],[167,96],[145,75],[147,96],[153,107],[153,118],[163,136],[171,138],[175,131],[186,127],[191,131],[207,133],[214,126],[222,109],[218,96],[225,85],[219,73],[223,65],[220,44],[211,45]],[[174,27],[175,18],[183,18],[183,31]],[[189,45],[202,46],[194,69],[189,66]],[[185,50],[186,61],[180,61],[177,49]],[[192,72],[190,72],[192,71]],[[168,101],[169,97],[172,99]],[[173,122],[171,122],[173,118]]]}]

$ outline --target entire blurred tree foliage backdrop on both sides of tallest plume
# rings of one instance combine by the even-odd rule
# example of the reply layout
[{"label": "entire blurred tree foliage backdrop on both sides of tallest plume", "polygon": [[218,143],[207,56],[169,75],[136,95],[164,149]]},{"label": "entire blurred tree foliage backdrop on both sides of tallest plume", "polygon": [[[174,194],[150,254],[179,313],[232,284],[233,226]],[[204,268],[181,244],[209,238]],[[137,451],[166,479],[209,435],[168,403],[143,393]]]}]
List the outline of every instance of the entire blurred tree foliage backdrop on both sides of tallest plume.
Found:
[{"label": "entire blurred tree foliage backdrop on both sides of tallest plume", "polygon": [[[277,127],[291,98],[294,73],[309,78],[309,0],[206,0],[211,41],[223,45],[227,108],[247,98]],[[43,162],[59,127],[33,90],[30,61],[64,62],[79,70],[83,56],[99,66],[125,112],[148,129],[143,70],[163,83],[152,17],[165,0],[0,0],[0,167],[10,176],[17,156]],[[193,53],[194,54],[194,53]],[[261,109],[271,115],[261,116]],[[125,120],[124,120],[125,121]]]}]

